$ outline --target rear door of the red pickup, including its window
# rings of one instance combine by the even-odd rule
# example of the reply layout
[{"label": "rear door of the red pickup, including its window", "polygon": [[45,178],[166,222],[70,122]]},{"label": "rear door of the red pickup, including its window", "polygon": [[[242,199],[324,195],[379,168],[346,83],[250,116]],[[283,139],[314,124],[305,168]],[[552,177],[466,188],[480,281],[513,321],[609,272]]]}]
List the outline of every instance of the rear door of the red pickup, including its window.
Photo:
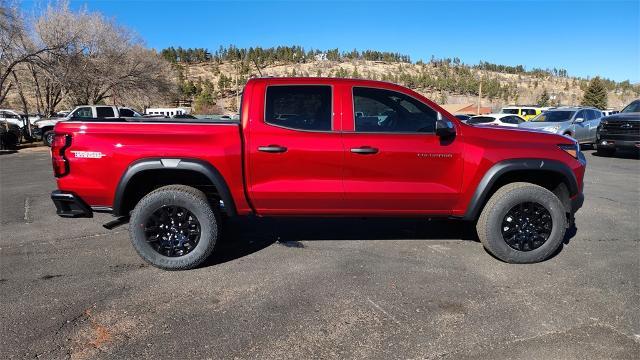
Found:
[{"label": "rear door of the red pickup, including its window", "polygon": [[252,89],[245,169],[257,213],[339,213],[344,152],[334,87],[265,80]]}]

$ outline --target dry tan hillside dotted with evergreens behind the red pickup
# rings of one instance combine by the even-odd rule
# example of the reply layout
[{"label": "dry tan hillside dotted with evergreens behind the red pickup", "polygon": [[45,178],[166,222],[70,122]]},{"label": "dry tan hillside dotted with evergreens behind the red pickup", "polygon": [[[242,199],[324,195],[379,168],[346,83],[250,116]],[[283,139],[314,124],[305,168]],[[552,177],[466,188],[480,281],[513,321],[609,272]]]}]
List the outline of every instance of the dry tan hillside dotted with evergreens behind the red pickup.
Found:
[{"label": "dry tan hillside dotted with evergreens behind the red pickup", "polygon": [[[354,50],[340,54],[337,49],[337,56],[327,56],[327,52],[317,50],[310,53],[301,50],[299,56],[293,52],[294,55],[275,55],[275,59],[268,60],[257,57],[262,61],[256,61],[255,58],[251,61],[252,51],[258,49],[229,49],[240,53],[230,55],[229,50],[221,48],[208,57],[204,51],[205,55],[200,58],[171,59],[178,71],[181,97],[195,100],[196,110],[234,112],[236,79],[241,89],[248,78],[259,76],[258,66],[262,76],[349,77],[390,81],[408,86],[440,104],[476,103],[479,83],[482,81],[482,106],[494,109],[507,104],[536,104],[545,90],[551,96],[547,105],[576,105],[582,100],[588,84],[588,79],[567,76],[567,71],[563,69],[527,71],[523,66],[489,63],[470,66],[459,59],[431,59],[429,62],[412,63],[403,55],[378,52],[375,54],[381,55],[374,58],[384,60],[367,60],[373,57],[366,56],[367,52]],[[164,50],[163,55],[166,55]],[[301,60],[296,61],[296,58]],[[610,108],[619,109],[640,96],[640,86],[637,84],[606,79],[605,84]],[[204,101],[200,96],[203,92],[206,95]],[[198,102],[198,99],[201,101]],[[211,105],[212,102],[215,105]]]}]

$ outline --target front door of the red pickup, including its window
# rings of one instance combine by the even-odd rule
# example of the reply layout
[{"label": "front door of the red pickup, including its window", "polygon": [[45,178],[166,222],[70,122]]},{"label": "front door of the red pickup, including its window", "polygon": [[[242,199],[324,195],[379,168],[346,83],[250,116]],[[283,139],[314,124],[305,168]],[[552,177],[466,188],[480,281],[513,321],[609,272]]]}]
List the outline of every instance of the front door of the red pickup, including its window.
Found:
[{"label": "front door of the red pickup, including its window", "polygon": [[342,111],[353,122],[343,132],[346,206],[363,214],[450,212],[460,193],[462,141],[435,134],[440,115],[384,88],[353,87],[343,103],[353,104]]}]

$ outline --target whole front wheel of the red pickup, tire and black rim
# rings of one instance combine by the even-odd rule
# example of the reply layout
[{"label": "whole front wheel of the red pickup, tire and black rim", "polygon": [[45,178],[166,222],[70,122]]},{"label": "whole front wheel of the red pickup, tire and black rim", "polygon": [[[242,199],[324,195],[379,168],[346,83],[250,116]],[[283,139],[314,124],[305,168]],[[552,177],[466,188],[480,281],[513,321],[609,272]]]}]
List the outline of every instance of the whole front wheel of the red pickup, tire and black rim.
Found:
[{"label": "whole front wheel of the red pickup, tire and black rim", "polygon": [[485,205],[476,230],[498,259],[525,264],[552,256],[564,240],[566,210],[551,191],[531,183],[498,189]]}]

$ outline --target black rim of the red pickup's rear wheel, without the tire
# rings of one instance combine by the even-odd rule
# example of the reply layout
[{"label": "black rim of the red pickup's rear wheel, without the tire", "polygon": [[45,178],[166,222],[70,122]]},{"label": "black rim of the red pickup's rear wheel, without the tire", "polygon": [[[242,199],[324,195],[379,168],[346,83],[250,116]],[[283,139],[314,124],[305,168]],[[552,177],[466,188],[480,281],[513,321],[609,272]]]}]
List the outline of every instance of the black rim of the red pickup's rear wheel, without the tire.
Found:
[{"label": "black rim of the red pickup's rear wheel, without the tire", "polygon": [[158,253],[168,257],[184,256],[200,240],[200,223],[189,210],[168,205],[154,211],[144,228],[146,240]]}]

